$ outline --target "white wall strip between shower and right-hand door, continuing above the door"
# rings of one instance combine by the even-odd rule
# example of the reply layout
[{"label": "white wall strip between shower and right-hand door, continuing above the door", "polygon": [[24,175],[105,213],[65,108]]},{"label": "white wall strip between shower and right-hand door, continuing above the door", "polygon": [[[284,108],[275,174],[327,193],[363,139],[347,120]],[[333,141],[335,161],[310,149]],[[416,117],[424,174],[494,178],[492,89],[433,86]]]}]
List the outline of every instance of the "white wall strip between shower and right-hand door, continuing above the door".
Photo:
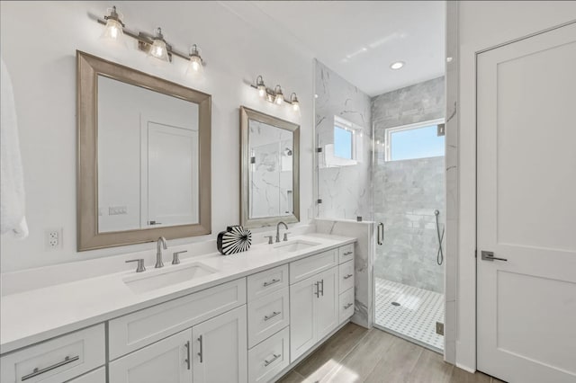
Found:
[{"label": "white wall strip between shower and right-hand door, continuing above the door", "polygon": [[[476,368],[476,52],[576,19],[576,2],[459,2],[459,233],[456,364]],[[448,76],[450,74],[448,73]],[[479,313],[482,315],[482,313]]]}]

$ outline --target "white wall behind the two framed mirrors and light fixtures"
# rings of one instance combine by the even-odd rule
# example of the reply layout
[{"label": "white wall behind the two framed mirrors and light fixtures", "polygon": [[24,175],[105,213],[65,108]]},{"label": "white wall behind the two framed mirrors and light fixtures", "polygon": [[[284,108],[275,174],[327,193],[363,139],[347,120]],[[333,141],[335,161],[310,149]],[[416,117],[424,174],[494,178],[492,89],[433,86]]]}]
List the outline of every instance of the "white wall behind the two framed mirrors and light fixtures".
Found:
[{"label": "white wall behind the two framed mirrors and light fixtures", "polygon": [[[2,2],[2,57],[14,83],[30,236],[2,237],[2,272],[152,249],[153,244],[76,252],[76,49],[134,67],[212,95],[212,234],[170,241],[214,238],[239,221],[239,105],[300,123],[301,220],[312,205],[312,56],[286,35],[263,28],[249,3],[115,2],[132,30],[161,26],[166,40],[186,50],[193,43],[207,62],[202,79],[184,75],[185,62],[152,66],[133,48],[112,51],[98,40],[100,17],[111,2]],[[260,27],[259,25],[262,25]],[[248,86],[258,75],[270,86],[296,92],[302,116],[262,101]],[[274,83],[274,84],[273,84]],[[47,228],[63,228],[63,246],[46,251]],[[215,249],[214,249],[215,250]]]}]

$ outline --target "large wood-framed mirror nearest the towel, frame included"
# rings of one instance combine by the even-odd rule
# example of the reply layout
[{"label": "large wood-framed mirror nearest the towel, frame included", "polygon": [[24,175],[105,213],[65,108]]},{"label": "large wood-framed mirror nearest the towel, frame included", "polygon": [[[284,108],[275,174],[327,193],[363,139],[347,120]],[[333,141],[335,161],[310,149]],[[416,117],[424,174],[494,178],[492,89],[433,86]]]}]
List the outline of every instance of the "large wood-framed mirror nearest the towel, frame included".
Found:
[{"label": "large wood-framed mirror nearest the towel, frame included", "polygon": [[211,233],[211,95],[76,51],[77,248]]}]

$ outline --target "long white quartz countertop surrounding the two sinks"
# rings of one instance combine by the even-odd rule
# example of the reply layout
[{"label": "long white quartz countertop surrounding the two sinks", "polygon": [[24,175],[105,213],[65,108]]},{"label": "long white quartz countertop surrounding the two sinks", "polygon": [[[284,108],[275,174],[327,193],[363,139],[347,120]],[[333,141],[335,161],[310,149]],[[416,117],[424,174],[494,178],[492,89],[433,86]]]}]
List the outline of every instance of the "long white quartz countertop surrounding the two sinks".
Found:
[{"label": "long white quartz countertop surrounding the two sinks", "polygon": [[[297,240],[319,245],[295,252],[285,252],[275,248],[276,245],[283,245],[282,243],[259,244],[253,245],[244,253],[226,256],[212,253],[183,259],[182,263],[177,265],[165,263],[166,266],[161,270],[167,271],[170,268],[175,270],[185,267],[186,264],[199,262],[215,269],[216,272],[142,293],[132,291],[124,283],[123,279],[126,276],[136,274],[131,271],[6,295],[1,298],[0,305],[0,354],[290,263],[314,253],[356,242],[356,238],[323,234],[295,236],[290,242]],[[153,265],[147,267],[147,272],[154,271]],[[121,270],[120,264],[119,270]]]}]

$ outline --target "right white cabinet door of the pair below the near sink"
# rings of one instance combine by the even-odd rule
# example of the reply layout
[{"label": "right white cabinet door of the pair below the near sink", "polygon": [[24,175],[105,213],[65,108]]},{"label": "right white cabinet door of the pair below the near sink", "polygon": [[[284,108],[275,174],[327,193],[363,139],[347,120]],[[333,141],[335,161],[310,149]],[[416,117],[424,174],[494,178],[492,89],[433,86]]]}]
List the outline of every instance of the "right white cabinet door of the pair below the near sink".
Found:
[{"label": "right white cabinet door of the pair below the near sink", "polygon": [[246,305],[192,327],[194,383],[246,383]]}]

